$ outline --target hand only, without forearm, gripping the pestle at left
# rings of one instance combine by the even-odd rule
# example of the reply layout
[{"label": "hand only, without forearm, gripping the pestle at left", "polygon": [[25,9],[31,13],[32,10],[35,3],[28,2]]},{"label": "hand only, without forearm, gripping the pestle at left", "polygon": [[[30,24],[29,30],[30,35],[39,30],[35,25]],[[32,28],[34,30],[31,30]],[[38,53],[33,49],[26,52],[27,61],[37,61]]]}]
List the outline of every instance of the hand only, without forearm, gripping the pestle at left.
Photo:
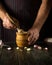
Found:
[{"label": "hand only, without forearm, gripping the pestle at left", "polygon": [[15,28],[15,26],[10,22],[10,19],[7,17],[6,14],[3,17],[3,26],[7,29]]}]

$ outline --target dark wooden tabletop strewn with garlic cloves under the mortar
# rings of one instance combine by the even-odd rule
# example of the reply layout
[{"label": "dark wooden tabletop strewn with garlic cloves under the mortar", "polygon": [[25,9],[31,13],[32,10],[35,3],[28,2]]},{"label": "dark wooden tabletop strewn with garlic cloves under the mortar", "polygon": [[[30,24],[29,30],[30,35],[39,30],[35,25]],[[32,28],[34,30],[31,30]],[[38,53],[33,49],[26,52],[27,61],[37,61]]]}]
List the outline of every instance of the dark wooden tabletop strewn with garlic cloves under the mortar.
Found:
[{"label": "dark wooden tabletop strewn with garlic cloves under the mortar", "polygon": [[7,50],[0,48],[0,65],[52,65],[52,55],[49,50],[38,50],[30,47],[31,51],[25,49]]}]

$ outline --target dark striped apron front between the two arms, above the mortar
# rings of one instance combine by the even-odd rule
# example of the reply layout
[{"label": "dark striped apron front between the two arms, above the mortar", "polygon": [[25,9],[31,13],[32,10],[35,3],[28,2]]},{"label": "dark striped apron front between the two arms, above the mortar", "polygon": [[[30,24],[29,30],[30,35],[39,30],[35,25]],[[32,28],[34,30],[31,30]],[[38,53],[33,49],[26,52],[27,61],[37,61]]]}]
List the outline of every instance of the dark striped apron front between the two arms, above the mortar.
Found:
[{"label": "dark striped apron front between the two arms, above the mortar", "polygon": [[40,4],[41,0],[4,0],[7,12],[19,20],[24,30],[32,27]]}]

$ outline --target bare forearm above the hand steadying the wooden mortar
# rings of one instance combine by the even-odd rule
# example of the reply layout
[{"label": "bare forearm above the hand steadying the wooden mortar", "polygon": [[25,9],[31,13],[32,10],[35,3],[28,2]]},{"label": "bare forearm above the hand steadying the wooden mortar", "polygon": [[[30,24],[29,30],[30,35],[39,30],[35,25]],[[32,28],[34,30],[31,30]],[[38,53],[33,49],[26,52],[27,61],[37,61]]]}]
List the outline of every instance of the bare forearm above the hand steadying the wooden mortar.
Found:
[{"label": "bare forearm above the hand steadying the wooden mortar", "polygon": [[38,14],[37,14],[37,18],[36,18],[36,20],[34,22],[33,27],[37,28],[39,31],[41,30],[45,20],[48,17],[50,9],[51,8],[47,4],[47,2],[42,2],[41,6],[40,6],[40,9],[38,11]]}]

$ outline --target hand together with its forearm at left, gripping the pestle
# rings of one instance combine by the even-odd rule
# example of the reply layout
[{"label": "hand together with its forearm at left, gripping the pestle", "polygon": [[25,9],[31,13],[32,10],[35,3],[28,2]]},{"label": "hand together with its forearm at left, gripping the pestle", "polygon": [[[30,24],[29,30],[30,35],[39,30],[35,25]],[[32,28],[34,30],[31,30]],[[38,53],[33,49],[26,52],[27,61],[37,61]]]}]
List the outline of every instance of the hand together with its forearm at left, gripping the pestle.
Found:
[{"label": "hand together with its forearm at left, gripping the pestle", "polygon": [[15,28],[15,26],[11,23],[9,15],[7,16],[7,14],[8,13],[6,12],[6,10],[3,8],[2,4],[1,4],[0,5],[0,18],[3,21],[3,26],[8,29]]}]

